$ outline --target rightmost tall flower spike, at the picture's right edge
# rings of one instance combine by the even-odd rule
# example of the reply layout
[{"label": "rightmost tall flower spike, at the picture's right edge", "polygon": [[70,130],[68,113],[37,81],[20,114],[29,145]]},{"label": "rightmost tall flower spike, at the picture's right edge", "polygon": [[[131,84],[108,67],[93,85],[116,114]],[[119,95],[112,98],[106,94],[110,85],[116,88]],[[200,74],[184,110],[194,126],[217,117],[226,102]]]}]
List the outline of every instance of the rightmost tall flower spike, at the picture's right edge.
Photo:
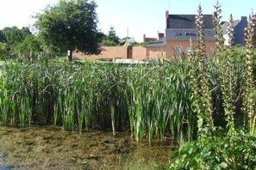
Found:
[{"label": "rightmost tall flower spike, at the picture's right edge", "polygon": [[243,110],[248,115],[248,124],[250,135],[255,134],[255,85],[253,80],[253,33],[254,33],[254,23],[255,18],[252,18],[253,15],[249,16],[248,26],[246,29],[246,46],[247,46],[247,55],[246,55],[246,83],[244,87],[244,98],[243,98]]}]

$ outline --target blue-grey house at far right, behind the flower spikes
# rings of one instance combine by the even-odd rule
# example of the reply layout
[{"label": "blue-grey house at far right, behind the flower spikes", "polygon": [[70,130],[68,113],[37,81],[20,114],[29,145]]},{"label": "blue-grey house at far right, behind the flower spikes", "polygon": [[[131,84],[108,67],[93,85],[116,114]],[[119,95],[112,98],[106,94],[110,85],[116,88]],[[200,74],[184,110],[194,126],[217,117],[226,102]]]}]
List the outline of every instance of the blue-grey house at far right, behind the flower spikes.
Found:
[{"label": "blue-grey house at far right, behind the flower spikes", "polygon": [[[245,28],[247,27],[247,16],[241,16],[240,20],[234,21],[234,45],[245,46]],[[224,45],[228,46],[228,21],[222,23],[222,34]]]}]

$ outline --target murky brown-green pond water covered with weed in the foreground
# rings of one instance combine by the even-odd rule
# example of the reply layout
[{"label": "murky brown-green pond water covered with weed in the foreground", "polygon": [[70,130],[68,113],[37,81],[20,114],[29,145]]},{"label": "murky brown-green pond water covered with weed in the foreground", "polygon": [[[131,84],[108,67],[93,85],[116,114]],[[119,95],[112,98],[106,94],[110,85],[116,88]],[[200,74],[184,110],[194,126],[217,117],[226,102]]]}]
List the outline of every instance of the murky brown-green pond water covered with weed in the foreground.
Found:
[{"label": "murky brown-green pond water covered with weed in the foreground", "polygon": [[129,133],[0,127],[0,169],[131,169],[152,162],[165,169],[170,143],[138,144]]}]

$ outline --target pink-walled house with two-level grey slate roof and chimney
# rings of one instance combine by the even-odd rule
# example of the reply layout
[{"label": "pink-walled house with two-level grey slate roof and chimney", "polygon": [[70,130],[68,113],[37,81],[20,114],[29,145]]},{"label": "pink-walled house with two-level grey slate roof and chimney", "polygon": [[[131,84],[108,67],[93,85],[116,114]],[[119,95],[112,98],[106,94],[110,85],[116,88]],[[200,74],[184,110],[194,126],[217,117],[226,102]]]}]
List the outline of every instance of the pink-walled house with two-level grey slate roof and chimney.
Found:
[{"label": "pink-walled house with two-level grey slate roof and chimney", "polygon": [[[160,48],[165,58],[178,57],[197,46],[196,15],[174,15],[165,12],[165,37],[148,44],[149,48]],[[215,30],[213,15],[203,15],[206,53],[215,49]]]}]

